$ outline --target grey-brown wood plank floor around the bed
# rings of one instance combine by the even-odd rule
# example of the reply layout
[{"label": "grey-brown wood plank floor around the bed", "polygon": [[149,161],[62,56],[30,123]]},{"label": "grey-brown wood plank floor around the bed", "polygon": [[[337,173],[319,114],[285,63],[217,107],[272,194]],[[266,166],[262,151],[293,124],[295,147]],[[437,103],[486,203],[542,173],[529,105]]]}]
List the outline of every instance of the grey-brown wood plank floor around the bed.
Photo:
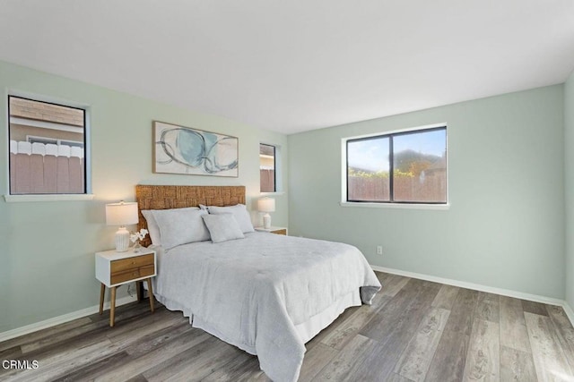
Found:
[{"label": "grey-brown wood plank floor around the bed", "polygon": [[[560,307],[377,273],[372,306],[312,339],[301,381],[574,380],[574,328]],[[268,381],[257,357],[145,302],[0,343],[0,380]],[[34,368],[32,361],[38,361]],[[4,362],[3,362],[4,364]]]}]

